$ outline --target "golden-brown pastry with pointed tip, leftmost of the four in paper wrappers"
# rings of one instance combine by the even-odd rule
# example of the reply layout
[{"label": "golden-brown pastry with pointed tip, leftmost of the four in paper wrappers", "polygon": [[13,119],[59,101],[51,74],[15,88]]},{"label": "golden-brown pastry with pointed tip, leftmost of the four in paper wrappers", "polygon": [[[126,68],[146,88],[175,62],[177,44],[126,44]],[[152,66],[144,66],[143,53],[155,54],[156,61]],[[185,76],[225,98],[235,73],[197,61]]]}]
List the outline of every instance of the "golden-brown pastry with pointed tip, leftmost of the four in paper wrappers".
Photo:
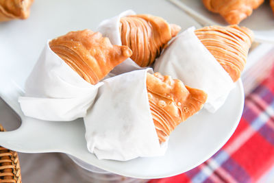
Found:
[{"label": "golden-brown pastry with pointed tip, leftmost of the four in paper wrappers", "polygon": [[125,46],[112,45],[99,32],[69,32],[49,42],[49,47],[90,84],[97,84],[114,66],[132,56]]}]

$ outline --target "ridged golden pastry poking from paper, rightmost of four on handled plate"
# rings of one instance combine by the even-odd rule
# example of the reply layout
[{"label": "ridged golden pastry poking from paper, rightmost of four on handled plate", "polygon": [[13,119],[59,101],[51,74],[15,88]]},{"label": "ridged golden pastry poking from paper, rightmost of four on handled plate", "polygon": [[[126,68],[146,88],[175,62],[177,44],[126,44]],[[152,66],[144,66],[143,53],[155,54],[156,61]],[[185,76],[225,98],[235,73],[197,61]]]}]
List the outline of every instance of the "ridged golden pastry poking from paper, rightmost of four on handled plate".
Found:
[{"label": "ridged golden pastry poking from paper, rightmost of four on handled plate", "polygon": [[236,82],[247,62],[253,32],[246,27],[230,25],[203,27],[195,30],[195,34]]}]

